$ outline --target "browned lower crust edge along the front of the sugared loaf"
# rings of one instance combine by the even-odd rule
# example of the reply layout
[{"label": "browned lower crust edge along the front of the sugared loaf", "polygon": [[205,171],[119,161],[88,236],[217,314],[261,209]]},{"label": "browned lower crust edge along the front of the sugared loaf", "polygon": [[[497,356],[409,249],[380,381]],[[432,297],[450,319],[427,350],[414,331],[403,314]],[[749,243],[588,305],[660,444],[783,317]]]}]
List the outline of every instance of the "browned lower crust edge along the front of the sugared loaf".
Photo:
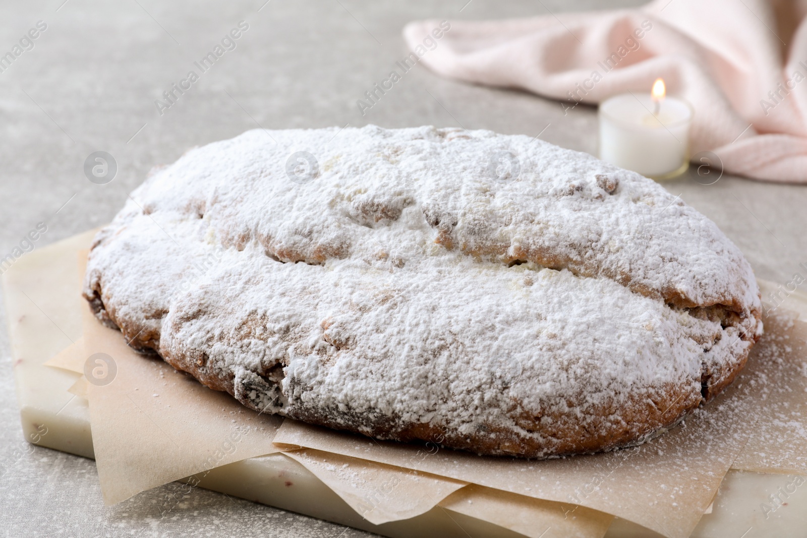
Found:
[{"label": "browned lower crust edge along the front of the sugared loaf", "polygon": [[[116,319],[102,301],[102,290],[97,283],[92,294],[84,292],[90,308],[102,323],[117,327],[132,348],[140,352],[158,352],[160,335],[153,329],[137,324],[125,323]],[[759,321],[759,312],[754,312]],[[729,386],[746,365],[749,352],[759,336],[746,333],[742,340],[750,341],[742,357],[734,361],[728,371],[721,372],[716,382],[709,383],[710,376],[696,382],[682,385],[672,383],[667,386],[649,387],[642,392],[629,394],[621,402],[612,400],[607,405],[589,407],[588,416],[600,416],[599,422],[581,423],[569,414],[544,414],[535,416],[521,407],[521,402],[512,400],[512,427],[494,426],[480,423],[474,432],[462,434],[431,423],[404,423],[391,417],[377,419],[367,424],[366,416],[345,413],[336,409],[302,407],[297,410],[280,409],[280,415],[299,419],[306,423],[331,427],[337,430],[359,433],[383,440],[439,444],[445,448],[466,450],[479,455],[509,456],[526,458],[561,457],[579,453],[597,453],[641,444],[666,428],[679,423],[702,402],[713,399]],[[190,373],[203,385],[231,394],[246,407],[259,410],[245,398],[237,398],[235,376],[232,373],[221,376],[207,367],[205,357],[161,358],[178,370]],[[704,382],[705,380],[705,382]],[[279,391],[278,391],[279,392]],[[684,397],[682,398],[682,394]],[[618,412],[617,412],[618,411]],[[618,417],[619,419],[609,419]],[[537,435],[536,435],[537,434]]]}]

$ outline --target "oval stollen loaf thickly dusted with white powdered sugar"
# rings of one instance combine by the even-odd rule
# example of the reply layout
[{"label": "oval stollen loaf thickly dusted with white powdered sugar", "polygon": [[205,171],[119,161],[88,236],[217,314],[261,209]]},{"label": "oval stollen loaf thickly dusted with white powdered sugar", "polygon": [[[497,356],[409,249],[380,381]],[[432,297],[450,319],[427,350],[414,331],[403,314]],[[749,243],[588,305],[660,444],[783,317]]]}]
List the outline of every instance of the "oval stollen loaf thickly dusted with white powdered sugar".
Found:
[{"label": "oval stollen loaf thickly dusted with white powdered sugar", "polygon": [[[301,151],[319,170],[303,183]],[[99,234],[85,294],[249,407],[527,456],[675,422],[762,328],[742,253],[653,181],[434,127],[194,148]]]}]

